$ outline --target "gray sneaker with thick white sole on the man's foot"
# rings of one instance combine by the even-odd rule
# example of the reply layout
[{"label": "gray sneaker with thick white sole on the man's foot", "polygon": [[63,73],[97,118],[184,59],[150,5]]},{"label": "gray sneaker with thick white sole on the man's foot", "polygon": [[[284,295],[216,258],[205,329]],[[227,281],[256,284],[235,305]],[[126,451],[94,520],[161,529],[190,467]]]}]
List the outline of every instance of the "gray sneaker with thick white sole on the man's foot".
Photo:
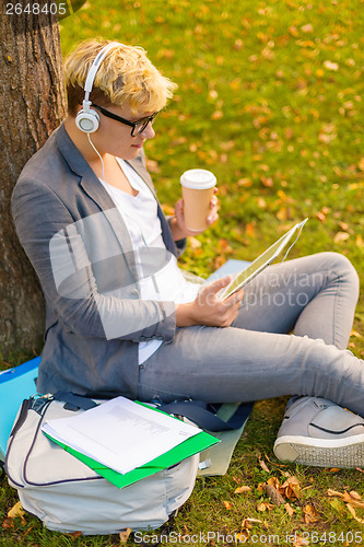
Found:
[{"label": "gray sneaker with thick white sole on the man's foot", "polygon": [[319,397],[290,399],[274,443],[279,459],[318,467],[364,467],[364,419]]}]

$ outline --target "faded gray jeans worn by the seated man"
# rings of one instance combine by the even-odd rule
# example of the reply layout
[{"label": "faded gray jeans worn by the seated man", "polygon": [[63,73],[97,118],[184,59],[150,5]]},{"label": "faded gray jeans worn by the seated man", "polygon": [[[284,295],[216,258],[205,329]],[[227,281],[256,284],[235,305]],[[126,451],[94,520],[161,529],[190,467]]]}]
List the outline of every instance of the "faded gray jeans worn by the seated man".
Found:
[{"label": "faded gray jeans worn by the seated man", "polygon": [[232,326],[178,328],[140,366],[139,398],[310,395],[364,417],[364,362],[345,350],[357,294],[357,275],[337,253],[270,266],[245,288]]}]

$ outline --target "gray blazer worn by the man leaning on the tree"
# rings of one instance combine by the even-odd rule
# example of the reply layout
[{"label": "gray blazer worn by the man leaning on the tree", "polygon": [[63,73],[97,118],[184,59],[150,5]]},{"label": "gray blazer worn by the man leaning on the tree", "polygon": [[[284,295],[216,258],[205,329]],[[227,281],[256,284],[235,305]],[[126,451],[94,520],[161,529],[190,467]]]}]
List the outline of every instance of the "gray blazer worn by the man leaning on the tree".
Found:
[{"label": "gray blazer worn by the man leaning on the tree", "polygon": [[[129,163],[155,196],[143,152]],[[175,304],[140,299],[125,220],[63,125],[22,171],[12,213],[46,301],[38,392],[137,398],[137,342],[171,342]],[[144,249],[145,276],[185,245],[173,241],[158,202],[157,216],[167,251]]]}]

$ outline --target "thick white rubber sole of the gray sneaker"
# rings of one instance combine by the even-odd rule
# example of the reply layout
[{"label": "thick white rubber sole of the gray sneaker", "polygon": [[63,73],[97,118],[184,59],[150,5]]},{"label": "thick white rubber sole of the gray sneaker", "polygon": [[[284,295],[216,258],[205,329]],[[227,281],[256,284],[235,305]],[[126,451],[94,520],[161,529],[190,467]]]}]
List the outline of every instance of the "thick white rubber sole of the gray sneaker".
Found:
[{"label": "thick white rubber sole of the gray sneaker", "polygon": [[318,467],[364,467],[364,434],[344,439],[280,437],[274,454],[283,462]]}]

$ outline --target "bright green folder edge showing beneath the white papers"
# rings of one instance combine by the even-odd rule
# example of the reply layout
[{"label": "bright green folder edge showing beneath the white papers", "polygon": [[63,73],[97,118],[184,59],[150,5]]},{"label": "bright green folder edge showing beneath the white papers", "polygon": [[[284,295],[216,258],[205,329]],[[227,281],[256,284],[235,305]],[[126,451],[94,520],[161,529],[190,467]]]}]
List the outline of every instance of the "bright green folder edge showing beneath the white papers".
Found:
[{"label": "bright green folder edge showing beneath the white papers", "polygon": [[[161,412],[161,410],[154,408],[152,408],[152,410]],[[210,446],[213,446],[214,444],[220,442],[215,437],[201,431],[200,433],[186,439],[186,441],[181,442],[177,446],[174,446],[172,450],[165,452],[164,454],[161,454],[161,456],[151,459],[151,462],[149,462],[148,464],[137,467],[129,473],[121,474],[114,469],[110,469],[109,467],[106,467],[105,465],[96,462],[89,456],[85,456],[81,452],[71,449],[67,444],[56,441],[52,437],[48,435],[48,433],[45,434],[51,441],[59,444],[63,450],[72,454],[72,456],[80,459],[82,463],[91,467],[91,469],[96,472],[109,482],[113,482],[113,485],[118,488],[124,488],[126,486],[132,485],[133,482],[137,482],[137,480],[141,480],[145,477],[154,475],[155,473],[158,473],[162,469],[166,469],[167,467],[176,465],[183,459],[186,459],[187,457],[190,457],[198,452],[202,452],[203,450],[209,449]]]}]

